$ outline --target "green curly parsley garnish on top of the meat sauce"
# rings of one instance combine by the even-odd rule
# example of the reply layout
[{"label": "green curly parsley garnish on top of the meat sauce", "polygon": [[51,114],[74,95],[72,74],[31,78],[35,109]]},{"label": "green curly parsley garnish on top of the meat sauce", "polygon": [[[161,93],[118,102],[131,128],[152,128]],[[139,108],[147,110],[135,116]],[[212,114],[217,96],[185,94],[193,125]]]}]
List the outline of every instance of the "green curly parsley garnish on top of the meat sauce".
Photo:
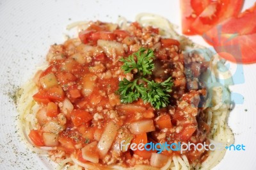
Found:
[{"label": "green curly parsley garnish on top of the meat sauce", "polygon": [[128,58],[120,59],[124,62],[122,66],[124,72],[131,73],[136,70],[136,76],[134,75],[134,77],[138,77],[133,81],[125,78],[120,81],[118,93],[122,103],[131,103],[141,98],[156,109],[166,107],[169,104],[169,93],[173,86],[172,77],[160,83],[147,79],[147,75],[151,75],[154,69],[154,58],[153,50],[141,48]]}]

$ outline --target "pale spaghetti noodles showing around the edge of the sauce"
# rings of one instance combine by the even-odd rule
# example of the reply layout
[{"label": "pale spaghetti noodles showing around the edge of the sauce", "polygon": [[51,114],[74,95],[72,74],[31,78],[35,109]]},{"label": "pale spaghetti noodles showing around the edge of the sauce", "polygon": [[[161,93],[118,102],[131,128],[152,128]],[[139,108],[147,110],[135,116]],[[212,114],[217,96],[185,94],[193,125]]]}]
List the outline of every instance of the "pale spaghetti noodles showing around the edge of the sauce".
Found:
[{"label": "pale spaghetti noodles showing around the edge of the sauce", "polygon": [[[209,70],[211,75],[205,77],[205,82],[207,82],[207,90],[209,91],[209,98],[204,107],[204,112],[207,117],[207,125],[211,127],[210,133],[207,136],[210,143],[221,143],[223,146],[230,145],[234,142],[234,136],[232,131],[227,125],[227,118],[230,108],[230,93],[228,92],[228,85],[230,81],[220,82],[219,79],[228,79],[230,76],[229,72],[220,72],[217,64],[220,61],[217,55],[213,55],[211,50],[208,50],[200,45],[188,40],[184,36],[180,36],[175,32],[175,26],[170,24],[170,22],[164,19],[161,16],[150,14],[150,13],[141,13],[137,15],[136,21],[143,26],[154,26],[160,28],[160,35],[167,38],[174,38],[179,40],[180,46],[184,52],[191,51],[203,51],[205,54],[205,59],[210,61]],[[90,22],[74,22],[67,26],[67,29],[72,29],[78,27],[79,31],[86,29]],[[129,23],[123,17],[118,19],[118,24],[121,29],[127,29]],[[211,56],[213,56],[211,58]],[[224,65],[223,65],[224,66]],[[44,68],[40,68],[42,70]],[[29,139],[28,135],[30,130],[37,129],[38,120],[36,119],[36,112],[40,106],[33,100],[33,94],[38,92],[36,84],[33,81],[29,81],[24,85],[20,91],[21,97],[19,98],[18,111],[20,112],[20,134],[22,134],[22,139],[25,139],[31,150],[36,153],[47,153],[47,151],[57,150],[54,146],[33,146],[33,142]],[[174,155],[171,158],[168,158],[166,164],[161,167],[164,169],[211,169],[220,162],[220,160],[225,155],[225,148],[222,148],[220,151],[208,151],[208,157],[202,162],[202,164],[189,164],[189,160],[186,155]],[[84,163],[79,161],[74,155],[71,155],[68,158],[65,158],[59,163],[58,169],[100,169],[100,166],[94,163]],[[118,165],[109,165],[104,166],[104,168],[109,169],[157,169],[155,167],[150,167],[147,165],[135,165],[134,167],[124,167],[122,164]]]}]

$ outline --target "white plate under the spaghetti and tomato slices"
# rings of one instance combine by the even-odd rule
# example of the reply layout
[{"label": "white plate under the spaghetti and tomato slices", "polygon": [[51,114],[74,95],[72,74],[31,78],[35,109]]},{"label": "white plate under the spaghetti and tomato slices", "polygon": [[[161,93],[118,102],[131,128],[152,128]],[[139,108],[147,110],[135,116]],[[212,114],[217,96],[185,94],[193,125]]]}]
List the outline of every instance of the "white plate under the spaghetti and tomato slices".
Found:
[{"label": "white plate under the spaghetti and tomato slices", "polygon": [[[246,0],[244,8],[255,0]],[[136,14],[150,12],[162,15],[180,26],[179,1],[0,1],[0,169],[53,169],[48,160],[31,153],[17,134],[17,111],[10,94],[26,82],[36,66],[45,59],[49,46],[63,42],[67,24],[78,20],[116,22],[118,15],[134,20]],[[180,27],[179,27],[180,30]],[[199,36],[192,37],[204,43]],[[232,91],[244,97],[230,113],[228,123],[236,144],[244,144],[245,151],[227,151],[214,169],[256,169],[256,65],[230,65],[239,79]],[[236,71],[239,75],[236,74]],[[247,110],[247,111],[245,111]],[[43,159],[43,160],[42,160]]]}]

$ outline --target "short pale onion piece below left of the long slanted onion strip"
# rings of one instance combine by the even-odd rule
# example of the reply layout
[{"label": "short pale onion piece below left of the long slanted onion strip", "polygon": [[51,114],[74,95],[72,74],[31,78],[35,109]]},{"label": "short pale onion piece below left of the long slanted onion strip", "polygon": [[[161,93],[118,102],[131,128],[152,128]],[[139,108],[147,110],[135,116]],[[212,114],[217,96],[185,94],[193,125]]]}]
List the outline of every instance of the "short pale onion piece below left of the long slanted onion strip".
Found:
[{"label": "short pale onion piece below left of the long slanted onion strip", "polygon": [[93,162],[95,164],[99,163],[99,154],[95,151],[97,147],[97,142],[94,141],[90,144],[87,144],[82,148],[82,156],[85,160]]}]

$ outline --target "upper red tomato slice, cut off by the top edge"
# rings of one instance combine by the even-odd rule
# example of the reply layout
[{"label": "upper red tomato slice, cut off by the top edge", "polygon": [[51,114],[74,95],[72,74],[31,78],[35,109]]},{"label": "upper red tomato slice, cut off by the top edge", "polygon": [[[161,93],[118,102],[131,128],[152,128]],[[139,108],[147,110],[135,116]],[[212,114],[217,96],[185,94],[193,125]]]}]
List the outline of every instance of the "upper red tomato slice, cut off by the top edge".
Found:
[{"label": "upper red tomato slice, cut off by the top edge", "polygon": [[202,35],[211,27],[229,17],[237,16],[243,0],[180,0],[182,33]]}]

